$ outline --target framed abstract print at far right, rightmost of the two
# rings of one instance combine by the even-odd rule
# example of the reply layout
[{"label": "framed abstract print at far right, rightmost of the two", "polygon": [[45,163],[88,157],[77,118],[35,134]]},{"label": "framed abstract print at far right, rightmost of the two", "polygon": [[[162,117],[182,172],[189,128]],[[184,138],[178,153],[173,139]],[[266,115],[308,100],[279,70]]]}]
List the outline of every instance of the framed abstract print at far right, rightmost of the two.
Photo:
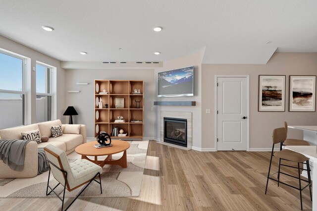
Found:
[{"label": "framed abstract print at far right, rightmost of the two", "polygon": [[316,75],[289,76],[289,111],[316,111]]}]

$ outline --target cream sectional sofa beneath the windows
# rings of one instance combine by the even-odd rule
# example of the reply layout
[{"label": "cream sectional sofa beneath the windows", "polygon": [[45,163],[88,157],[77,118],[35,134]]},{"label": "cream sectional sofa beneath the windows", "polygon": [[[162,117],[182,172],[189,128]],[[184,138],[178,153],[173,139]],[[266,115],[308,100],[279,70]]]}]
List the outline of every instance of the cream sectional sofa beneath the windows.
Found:
[{"label": "cream sectional sofa beneath the windows", "polygon": [[[51,127],[57,125],[62,126],[63,135],[53,138]],[[78,145],[86,143],[86,125],[80,126],[79,134],[75,134],[73,132],[64,133],[65,126],[66,125],[62,124],[61,121],[57,119],[0,130],[0,141],[1,139],[22,139],[21,132],[28,132],[36,129],[39,129],[41,136],[49,137],[48,142],[37,144],[35,141],[31,141],[26,145],[24,168],[22,171],[14,171],[0,160],[0,178],[29,178],[36,176],[38,174],[38,147],[45,147],[48,144],[52,144],[53,146],[65,151],[68,155],[73,152]]]}]

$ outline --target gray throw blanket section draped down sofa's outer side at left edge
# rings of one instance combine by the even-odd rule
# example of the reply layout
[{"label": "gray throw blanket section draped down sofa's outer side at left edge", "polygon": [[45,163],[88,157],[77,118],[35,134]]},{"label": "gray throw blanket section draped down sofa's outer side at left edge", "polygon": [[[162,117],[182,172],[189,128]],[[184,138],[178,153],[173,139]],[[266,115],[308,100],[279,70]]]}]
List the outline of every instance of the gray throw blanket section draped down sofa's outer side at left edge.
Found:
[{"label": "gray throw blanket section draped down sofa's outer side at left edge", "polygon": [[22,171],[24,167],[25,146],[31,140],[1,139],[0,159],[12,170]]}]

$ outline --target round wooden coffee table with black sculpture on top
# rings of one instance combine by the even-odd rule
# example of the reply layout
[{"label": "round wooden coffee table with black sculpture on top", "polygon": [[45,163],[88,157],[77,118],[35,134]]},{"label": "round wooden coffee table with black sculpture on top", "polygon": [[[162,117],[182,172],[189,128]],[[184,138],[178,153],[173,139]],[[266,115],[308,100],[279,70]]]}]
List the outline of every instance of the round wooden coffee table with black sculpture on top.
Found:
[{"label": "round wooden coffee table with black sculpture on top", "polygon": [[[105,164],[109,165],[120,165],[123,168],[126,168],[127,165],[127,149],[130,147],[130,143],[120,140],[111,140],[112,147],[105,147],[101,149],[95,148],[95,144],[98,144],[97,141],[88,142],[76,147],[75,151],[81,155],[82,159],[88,159],[93,163],[104,167]],[[112,160],[112,155],[123,152],[123,156],[120,159]],[[95,159],[89,159],[87,156],[94,156]],[[107,156],[105,160],[98,160],[98,156]]]}]

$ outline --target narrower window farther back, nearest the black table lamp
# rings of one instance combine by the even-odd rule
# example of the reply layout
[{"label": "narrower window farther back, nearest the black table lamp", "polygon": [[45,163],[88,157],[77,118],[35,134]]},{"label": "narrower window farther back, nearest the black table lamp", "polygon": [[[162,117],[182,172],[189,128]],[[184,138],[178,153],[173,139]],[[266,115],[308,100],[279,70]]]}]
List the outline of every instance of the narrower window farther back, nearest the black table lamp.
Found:
[{"label": "narrower window farther back, nearest the black table lamp", "polygon": [[52,67],[36,64],[36,122],[52,120]]}]

